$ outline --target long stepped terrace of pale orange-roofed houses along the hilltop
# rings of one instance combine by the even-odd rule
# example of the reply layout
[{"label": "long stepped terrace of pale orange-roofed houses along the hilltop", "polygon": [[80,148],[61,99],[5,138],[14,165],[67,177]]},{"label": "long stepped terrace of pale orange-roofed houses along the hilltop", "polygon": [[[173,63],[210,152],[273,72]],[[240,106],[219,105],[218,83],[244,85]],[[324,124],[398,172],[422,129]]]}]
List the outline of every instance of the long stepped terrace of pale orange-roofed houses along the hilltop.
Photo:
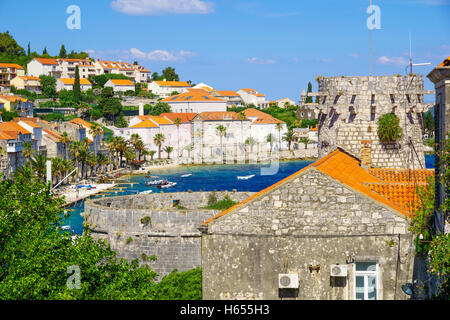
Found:
[{"label": "long stepped terrace of pale orange-roofed houses along the hilltop", "polygon": [[98,74],[122,74],[132,79],[134,83],[149,83],[151,81],[150,71],[140,65],[120,61],[96,60],[95,67]]}]

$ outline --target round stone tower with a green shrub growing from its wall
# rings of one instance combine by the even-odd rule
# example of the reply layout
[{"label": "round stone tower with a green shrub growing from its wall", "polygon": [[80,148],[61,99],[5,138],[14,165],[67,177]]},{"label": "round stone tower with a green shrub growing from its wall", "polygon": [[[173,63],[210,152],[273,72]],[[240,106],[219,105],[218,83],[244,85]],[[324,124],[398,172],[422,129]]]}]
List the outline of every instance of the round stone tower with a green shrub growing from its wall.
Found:
[{"label": "round stone tower with a green shrub growing from its wall", "polygon": [[[374,168],[425,168],[423,116],[432,104],[423,96],[421,75],[374,77],[319,77],[319,91],[309,93],[318,103],[311,106],[319,116],[319,158],[341,147]],[[386,113],[400,120],[403,138],[396,143],[381,143],[377,121]]]}]

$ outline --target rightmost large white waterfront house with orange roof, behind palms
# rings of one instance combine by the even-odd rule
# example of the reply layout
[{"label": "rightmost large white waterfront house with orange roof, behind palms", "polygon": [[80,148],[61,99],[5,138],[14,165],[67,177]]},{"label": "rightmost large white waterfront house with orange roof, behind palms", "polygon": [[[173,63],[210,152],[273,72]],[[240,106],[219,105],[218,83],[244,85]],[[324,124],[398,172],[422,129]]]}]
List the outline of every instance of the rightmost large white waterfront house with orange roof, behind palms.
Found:
[{"label": "rightmost large white waterfront house with orange roof, behind palms", "polygon": [[[255,140],[257,147],[255,151],[270,151],[266,139],[269,134],[275,138],[272,150],[287,149],[287,143],[283,141],[283,135],[287,132],[287,125],[284,121],[254,108],[245,109],[242,113],[251,121],[250,136]],[[280,130],[278,130],[277,124],[281,125]]]}]

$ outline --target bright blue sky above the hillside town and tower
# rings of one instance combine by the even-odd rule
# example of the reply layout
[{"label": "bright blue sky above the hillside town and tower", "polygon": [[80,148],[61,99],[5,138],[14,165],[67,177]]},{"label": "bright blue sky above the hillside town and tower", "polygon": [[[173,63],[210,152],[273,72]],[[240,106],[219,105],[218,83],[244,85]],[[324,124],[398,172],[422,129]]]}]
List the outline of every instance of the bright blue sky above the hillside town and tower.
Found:
[{"label": "bright blue sky above the hillside town and tower", "polygon": [[[369,0],[0,0],[0,31],[25,49],[89,50],[100,59],[166,66],[182,80],[219,90],[253,88],[269,100],[298,101],[315,78],[368,75]],[[69,30],[66,9],[81,9]],[[424,76],[450,55],[450,0],[373,0],[373,74],[405,74],[409,32]],[[426,89],[433,89],[426,79]]]}]

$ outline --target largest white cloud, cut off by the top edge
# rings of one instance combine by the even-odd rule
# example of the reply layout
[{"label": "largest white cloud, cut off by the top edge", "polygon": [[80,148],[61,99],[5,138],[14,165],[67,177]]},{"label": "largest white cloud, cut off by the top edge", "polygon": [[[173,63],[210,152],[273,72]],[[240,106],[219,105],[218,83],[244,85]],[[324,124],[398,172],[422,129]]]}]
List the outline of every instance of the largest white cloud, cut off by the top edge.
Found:
[{"label": "largest white cloud, cut off by the top edge", "polygon": [[129,15],[208,14],[214,3],[202,0],[115,0],[111,7]]}]

